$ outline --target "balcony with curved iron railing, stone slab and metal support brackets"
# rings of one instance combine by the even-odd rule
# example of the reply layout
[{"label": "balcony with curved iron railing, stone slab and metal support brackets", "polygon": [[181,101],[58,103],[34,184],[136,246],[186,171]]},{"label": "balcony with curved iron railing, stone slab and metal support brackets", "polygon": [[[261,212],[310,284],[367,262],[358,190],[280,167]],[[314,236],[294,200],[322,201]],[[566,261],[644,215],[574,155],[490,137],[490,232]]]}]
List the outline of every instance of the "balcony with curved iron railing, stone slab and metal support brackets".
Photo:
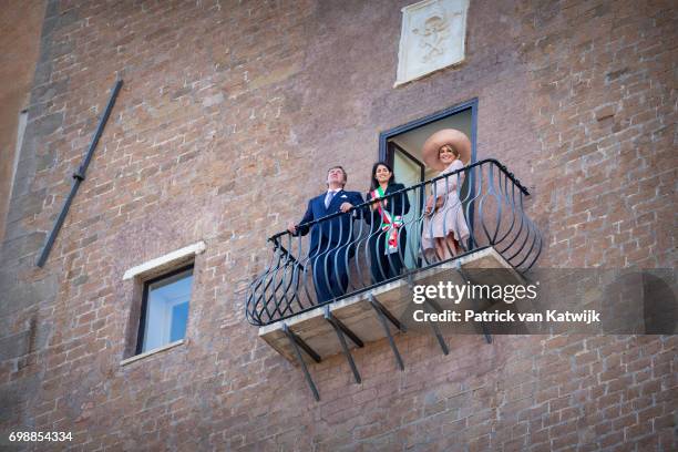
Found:
[{"label": "balcony with curved iron railing, stone slab and metal support brackets", "polygon": [[[417,286],[523,281],[522,273],[542,250],[540,232],[523,208],[525,196],[527,189],[505,166],[484,160],[391,193],[381,198],[381,210],[364,203],[299,225],[304,236],[276,234],[268,239],[270,263],[247,291],[247,320],[270,347],[301,367],[316,399],[308,364],[343,353],[360,382],[350,352],[355,347],[387,338],[403,369],[393,337],[408,329]],[[435,206],[433,199],[439,199]],[[428,203],[433,212],[427,212]],[[380,214],[389,204],[391,226]],[[441,227],[443,236],[456,232],[464,237],[436,247],[432,237],[441,235],[434,230]],[[427,298],[423,306],[441,312],[445,302]],[[461,301],[462,308],[476,311],[490,306]],[[446,353],[444,337],[435,327],[432,332]],[[486,331],[479,332],[490,341]]]}]

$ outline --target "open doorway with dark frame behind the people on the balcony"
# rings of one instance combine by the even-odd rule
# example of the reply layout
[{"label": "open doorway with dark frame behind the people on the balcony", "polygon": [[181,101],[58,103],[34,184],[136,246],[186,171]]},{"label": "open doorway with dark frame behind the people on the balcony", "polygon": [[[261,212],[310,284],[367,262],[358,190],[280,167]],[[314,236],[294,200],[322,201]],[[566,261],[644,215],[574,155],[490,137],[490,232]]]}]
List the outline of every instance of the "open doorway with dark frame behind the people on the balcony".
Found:
[{"label": "open doorway with dark frame behind the people on the balcony", "polygon": [[[471,140],[471,163],[475,162],[475,126],[476,126],[477,100],[465,102],[461,105],[446,109],[430,116],[413,121],[411,123],[382,132],[379,136],[379,158],[388,162],[393,168],[396,179],[405,186],[417,185],[439,175],[439,172],[424,165],[422,147],[424,142],[433,133],[442,129],[456,129]],[[466,193],[468,187],[462,185],[461,192]],[[418,196],[418,195],[419,196]],[[422,214],[424,205],[424,191],[411,191],[410,205],[413,207],[403,216],[404,224],[417,225],[414,220]],[[419,197],[414,199],[414,197]],[[470,198],[470,197],[469,197]],[[471,206],[472,207],[472,206]],[[473,222],[473,215],[469,220]],[[421,234],[408,232],[409,249],[419,249]],[[413,254],[407,254],[404,265],[408,268],[417,268],[421,263]]]}]

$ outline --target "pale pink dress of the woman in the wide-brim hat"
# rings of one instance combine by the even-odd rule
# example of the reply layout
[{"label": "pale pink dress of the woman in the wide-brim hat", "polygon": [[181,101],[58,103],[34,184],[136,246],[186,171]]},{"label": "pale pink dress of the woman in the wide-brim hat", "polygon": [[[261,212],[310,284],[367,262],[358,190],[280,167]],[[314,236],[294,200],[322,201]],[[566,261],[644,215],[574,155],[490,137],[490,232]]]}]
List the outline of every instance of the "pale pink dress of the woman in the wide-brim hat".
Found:
[{"label": "pale pink dress of the woman in the wide-brim hat", "polygon": [[[462,161],[455,160],[439,176],[463,167]],[[435,181],[435,191],[431,192],[431,196],[435,193],[438,198],[443,197],[445,199],[444,204],[435,210],[433,216],[424,217],[423,232],[421,234],[421,244],[424,250],[435,247],[433,237],[442,238],[454,234],[454,238],[460,244],[469,237],[464,209],[456,195],[458,185],[463,183],[463,178],[460,177],[462,173],[459,173],[448,177],[446,183],[444,178]]]}]

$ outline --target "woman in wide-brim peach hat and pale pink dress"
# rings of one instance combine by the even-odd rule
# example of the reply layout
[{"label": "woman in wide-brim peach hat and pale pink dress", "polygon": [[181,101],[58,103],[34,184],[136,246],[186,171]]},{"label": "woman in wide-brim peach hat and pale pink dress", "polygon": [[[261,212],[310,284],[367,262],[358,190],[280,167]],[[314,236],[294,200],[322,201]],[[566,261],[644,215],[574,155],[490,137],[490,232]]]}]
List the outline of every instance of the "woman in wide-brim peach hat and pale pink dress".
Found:
[{"label": "woman in wide-brim peach hat and pale pink dress", "polygon": [[[425,141],[422,154],[427,166],[440,171],[442,176],[462,170],[471,161],[471,141],[463,132],[443,129]],[[421,243],[424,253],[435,249],[439,259],[459,255],[469,238],[459,198],[462,183],[462,173],[438,179],[427,199]]]}]

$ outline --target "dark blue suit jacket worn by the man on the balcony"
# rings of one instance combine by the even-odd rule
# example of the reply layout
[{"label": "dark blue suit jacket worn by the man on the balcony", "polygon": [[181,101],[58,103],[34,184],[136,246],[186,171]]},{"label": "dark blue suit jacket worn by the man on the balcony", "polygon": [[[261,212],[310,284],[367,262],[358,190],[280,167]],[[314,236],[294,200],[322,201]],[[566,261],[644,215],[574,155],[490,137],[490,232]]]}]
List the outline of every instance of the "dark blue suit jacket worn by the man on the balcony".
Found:
[{"label": "dark blue suit jacket worn by the man on the balcony", "polygon": [[[350,203],[353,206],[358,206],[363,202],[360,193],[340,189],[337,192],[329,206],[325,208],[326,196],[327,192],[311,198],[308,202],[308,207],[304,214],[304,218],[301,218],[301,222],[299,222],[300,226],[298,227],[298,234],[307,235],[309,227],[305,226],[306,223],[340,212],[339,206],[341,206],[343,203]],[[328,244],[330,247],[333,247],[350,243],[352,239],[352,214],[345,214],[330,220],[320,222],[319,224],[312,225],[310,227],[311,240],[309,250],[315,250],[319,246],[328,246]]]}]

